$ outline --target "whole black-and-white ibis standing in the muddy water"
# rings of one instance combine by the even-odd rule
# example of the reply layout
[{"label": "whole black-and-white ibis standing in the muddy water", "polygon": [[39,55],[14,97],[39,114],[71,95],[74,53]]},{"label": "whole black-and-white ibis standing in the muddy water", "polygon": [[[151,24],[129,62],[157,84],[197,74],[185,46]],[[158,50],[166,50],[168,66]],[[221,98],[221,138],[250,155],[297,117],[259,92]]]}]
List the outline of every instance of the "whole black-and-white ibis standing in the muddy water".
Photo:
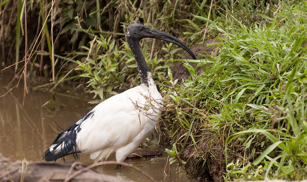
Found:
[{"label": "whole black-and-white ibis standing in the muddy water", "polygon": [[138,64],[141,85],[108,98],[84,118],[60,133],[45,151],[43,159],[55,161],[68,154],[90,153],[95,162],[115,154],[122,162],[154,130],[162,107],[162,97],[142,55],[139,41],[156,38],[172,42],[193,58],[192,51],[180,40],[142,24],[131,24],[126,33],[129,47]]}]

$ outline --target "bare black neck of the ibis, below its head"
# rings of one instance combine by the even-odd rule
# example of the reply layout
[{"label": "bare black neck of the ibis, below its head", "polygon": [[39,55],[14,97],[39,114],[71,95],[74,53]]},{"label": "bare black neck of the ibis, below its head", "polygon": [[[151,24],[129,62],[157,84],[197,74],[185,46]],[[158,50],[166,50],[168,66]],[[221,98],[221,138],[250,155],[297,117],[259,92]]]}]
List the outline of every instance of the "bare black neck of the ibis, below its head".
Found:
[{"label": "bare black neck of the ibis, below its head", "polygon": [[134,55],[135,61],[138,65],[138,71],[141,78],[141,84],[149,85],[148,82],[148,72],[149,68],[147,66],[147,63],[145,61],[145,58],[142,54],[141,46],[139,40],[132,40],[127,38],[127,42],[129,44],[129,47],[131,49],[131,52]]}]

